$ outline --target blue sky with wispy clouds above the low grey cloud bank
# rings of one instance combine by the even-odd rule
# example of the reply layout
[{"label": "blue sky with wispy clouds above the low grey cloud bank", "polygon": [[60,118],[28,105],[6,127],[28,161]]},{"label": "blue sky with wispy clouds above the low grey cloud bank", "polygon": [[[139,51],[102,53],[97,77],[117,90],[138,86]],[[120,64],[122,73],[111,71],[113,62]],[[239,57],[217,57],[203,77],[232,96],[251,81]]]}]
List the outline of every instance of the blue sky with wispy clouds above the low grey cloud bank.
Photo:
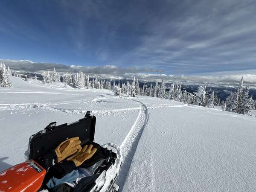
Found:
[{"label": "blue sky with wispy clouds above the low grey cloud bank", "polygon": [[255,12],[254,0],[6,0],[0,59],[168,75],[255,71]]}]

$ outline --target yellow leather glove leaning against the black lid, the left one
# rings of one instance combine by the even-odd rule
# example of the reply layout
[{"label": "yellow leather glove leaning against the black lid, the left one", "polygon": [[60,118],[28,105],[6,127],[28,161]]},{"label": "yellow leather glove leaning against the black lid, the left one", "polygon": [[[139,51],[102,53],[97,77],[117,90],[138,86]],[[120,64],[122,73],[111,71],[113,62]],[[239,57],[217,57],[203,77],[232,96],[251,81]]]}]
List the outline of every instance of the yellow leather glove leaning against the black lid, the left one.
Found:
[{"label": "yellow leather glove leaning against the black lid, the left one", "polygon": [[55,154],[58,157],[58,163],[66,159],[70,155],[75,154],[77,151],[81,151],[81,141],[79,137],[73,137],[68,140],[63,141],[55,149]]}]

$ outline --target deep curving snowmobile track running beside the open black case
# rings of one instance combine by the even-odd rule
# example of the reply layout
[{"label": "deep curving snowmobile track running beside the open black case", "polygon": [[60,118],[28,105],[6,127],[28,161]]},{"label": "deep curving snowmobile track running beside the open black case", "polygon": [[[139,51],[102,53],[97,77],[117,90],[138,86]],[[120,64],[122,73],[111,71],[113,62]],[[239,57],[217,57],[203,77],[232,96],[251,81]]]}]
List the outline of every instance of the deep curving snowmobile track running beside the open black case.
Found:
[{"label": "deep curving snowmobile track running beside the open black case", "polygon": [[149,110],[146,107],[146,105],[135,99],[132,99],[132,100],[135,102],[139,102],[141,105],[140,105],[139,115],[134,125],[130,129],[129,133],[125,137],[122,144],[120,145],[120,149],[123,156],[122,166],[120,168],[119,177],[117,181],[117,183],[120,186],[120,191],[122,191],[123,185],[125,184],[125,180],[128,176],[131,162],[134,157],[137,145],[148,123],[148,117],[149,117]]}]

